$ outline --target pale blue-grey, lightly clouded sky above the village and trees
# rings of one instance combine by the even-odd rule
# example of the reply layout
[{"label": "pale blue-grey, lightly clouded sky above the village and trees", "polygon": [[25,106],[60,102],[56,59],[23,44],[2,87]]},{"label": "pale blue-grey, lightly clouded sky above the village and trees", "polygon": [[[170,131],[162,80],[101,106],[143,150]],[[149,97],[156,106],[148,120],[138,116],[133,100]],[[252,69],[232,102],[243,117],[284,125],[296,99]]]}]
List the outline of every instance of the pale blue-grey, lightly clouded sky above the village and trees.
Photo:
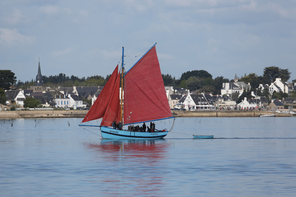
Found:
[{"label": "pale blue-grey, lightly clouded sky above the village and trees", "polygon": [[[2,0],[0,69],[17,81],[88,77],[126,69],[156,43],[161,72],[213,79],[289,69],[296,79],[295,0]],[[133,61],[131,61],[133,60]],[[119,63],[121,64],[121,63]]]}]

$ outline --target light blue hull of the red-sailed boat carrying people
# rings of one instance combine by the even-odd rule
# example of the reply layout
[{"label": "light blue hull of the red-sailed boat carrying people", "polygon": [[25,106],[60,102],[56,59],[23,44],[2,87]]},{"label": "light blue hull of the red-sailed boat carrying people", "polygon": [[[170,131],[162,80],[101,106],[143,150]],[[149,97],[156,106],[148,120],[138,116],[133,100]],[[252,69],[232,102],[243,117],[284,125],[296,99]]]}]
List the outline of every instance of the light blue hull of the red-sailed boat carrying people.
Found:
[{"label": "light blue hull of the red-sailed boat carrying people", "polygon": [[164,132],[134,132],[115,130],[109,127],[101,127],[102,137],[105,139],[161,139],[168,134]]}]

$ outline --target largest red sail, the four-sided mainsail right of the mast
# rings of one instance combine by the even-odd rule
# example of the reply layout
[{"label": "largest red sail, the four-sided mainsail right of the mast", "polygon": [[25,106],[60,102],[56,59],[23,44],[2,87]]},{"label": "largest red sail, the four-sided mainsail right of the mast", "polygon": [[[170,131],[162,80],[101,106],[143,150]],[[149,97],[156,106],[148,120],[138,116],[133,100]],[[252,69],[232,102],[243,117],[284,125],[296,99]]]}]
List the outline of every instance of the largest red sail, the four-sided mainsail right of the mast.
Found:
[{"label": "largest red sail, the four-sided mainsail right of the mast", "polygon": [[172,116],[155,46],[125,74],[124,124]]}]

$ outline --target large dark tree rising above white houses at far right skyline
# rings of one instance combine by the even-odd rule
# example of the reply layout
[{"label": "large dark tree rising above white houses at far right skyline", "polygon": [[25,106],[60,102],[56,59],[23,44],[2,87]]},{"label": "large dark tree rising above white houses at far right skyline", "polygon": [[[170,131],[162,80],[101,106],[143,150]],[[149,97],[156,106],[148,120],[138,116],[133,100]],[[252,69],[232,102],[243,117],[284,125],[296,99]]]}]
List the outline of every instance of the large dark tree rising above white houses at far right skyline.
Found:
[{"label": "large dark tree rising above white houses at far right skyline", "polygon": [[266,77],[269,80],[269,83],[274,82],[275,78],[281,78],[282,81],[287,82],[291,77],[291,72],[289,72],[289,69],[269,66],[264,68],[263,77]]}]

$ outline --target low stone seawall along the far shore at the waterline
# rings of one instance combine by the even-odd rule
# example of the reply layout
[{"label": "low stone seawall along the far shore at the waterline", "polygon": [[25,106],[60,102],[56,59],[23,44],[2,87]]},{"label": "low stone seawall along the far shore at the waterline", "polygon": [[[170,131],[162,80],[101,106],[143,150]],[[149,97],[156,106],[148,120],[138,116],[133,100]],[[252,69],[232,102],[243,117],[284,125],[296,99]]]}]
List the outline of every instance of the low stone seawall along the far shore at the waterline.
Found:
[{"label": "low stone seawall along the far shore at the waterline", "polygon": [[[88,110],[32,110],[0,111],[0,119],[11,118],[84,118]],[[275,114],[275,117],[291,117],[292,114],[272,111],[179,111],[173,110],[176,117],[258,117],[260,114]],[[295,116],[295,115],[294,115]]]}]

